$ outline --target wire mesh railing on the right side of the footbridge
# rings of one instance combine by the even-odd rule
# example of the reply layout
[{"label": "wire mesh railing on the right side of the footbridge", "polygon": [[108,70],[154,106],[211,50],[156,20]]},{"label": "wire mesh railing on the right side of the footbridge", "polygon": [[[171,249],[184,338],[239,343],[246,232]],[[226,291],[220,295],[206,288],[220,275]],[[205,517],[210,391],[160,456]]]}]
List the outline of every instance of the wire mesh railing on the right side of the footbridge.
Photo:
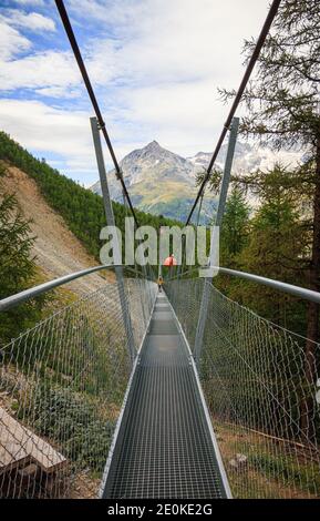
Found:
[{"label": "wire mesh railing on the right side of the footbridge", "polygon": [[[166,285],[192,349],[203,287]],[[198,370],[234,497],[320,497],[319,344],[312,351],[210,285]]]}]

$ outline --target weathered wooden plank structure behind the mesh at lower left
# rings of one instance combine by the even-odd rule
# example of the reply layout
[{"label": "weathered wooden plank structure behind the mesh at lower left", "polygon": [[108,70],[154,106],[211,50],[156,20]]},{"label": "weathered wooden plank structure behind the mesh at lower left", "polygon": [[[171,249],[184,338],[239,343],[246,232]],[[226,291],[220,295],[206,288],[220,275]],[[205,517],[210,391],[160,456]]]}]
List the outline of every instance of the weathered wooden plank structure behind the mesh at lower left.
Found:
[{"label": "weathered wooden plank structure behind the mesh at lower left", "polygon": [[51,445],[0,407],[0,472],[31,460],[48,473],[66,463],[66,459]]}]

